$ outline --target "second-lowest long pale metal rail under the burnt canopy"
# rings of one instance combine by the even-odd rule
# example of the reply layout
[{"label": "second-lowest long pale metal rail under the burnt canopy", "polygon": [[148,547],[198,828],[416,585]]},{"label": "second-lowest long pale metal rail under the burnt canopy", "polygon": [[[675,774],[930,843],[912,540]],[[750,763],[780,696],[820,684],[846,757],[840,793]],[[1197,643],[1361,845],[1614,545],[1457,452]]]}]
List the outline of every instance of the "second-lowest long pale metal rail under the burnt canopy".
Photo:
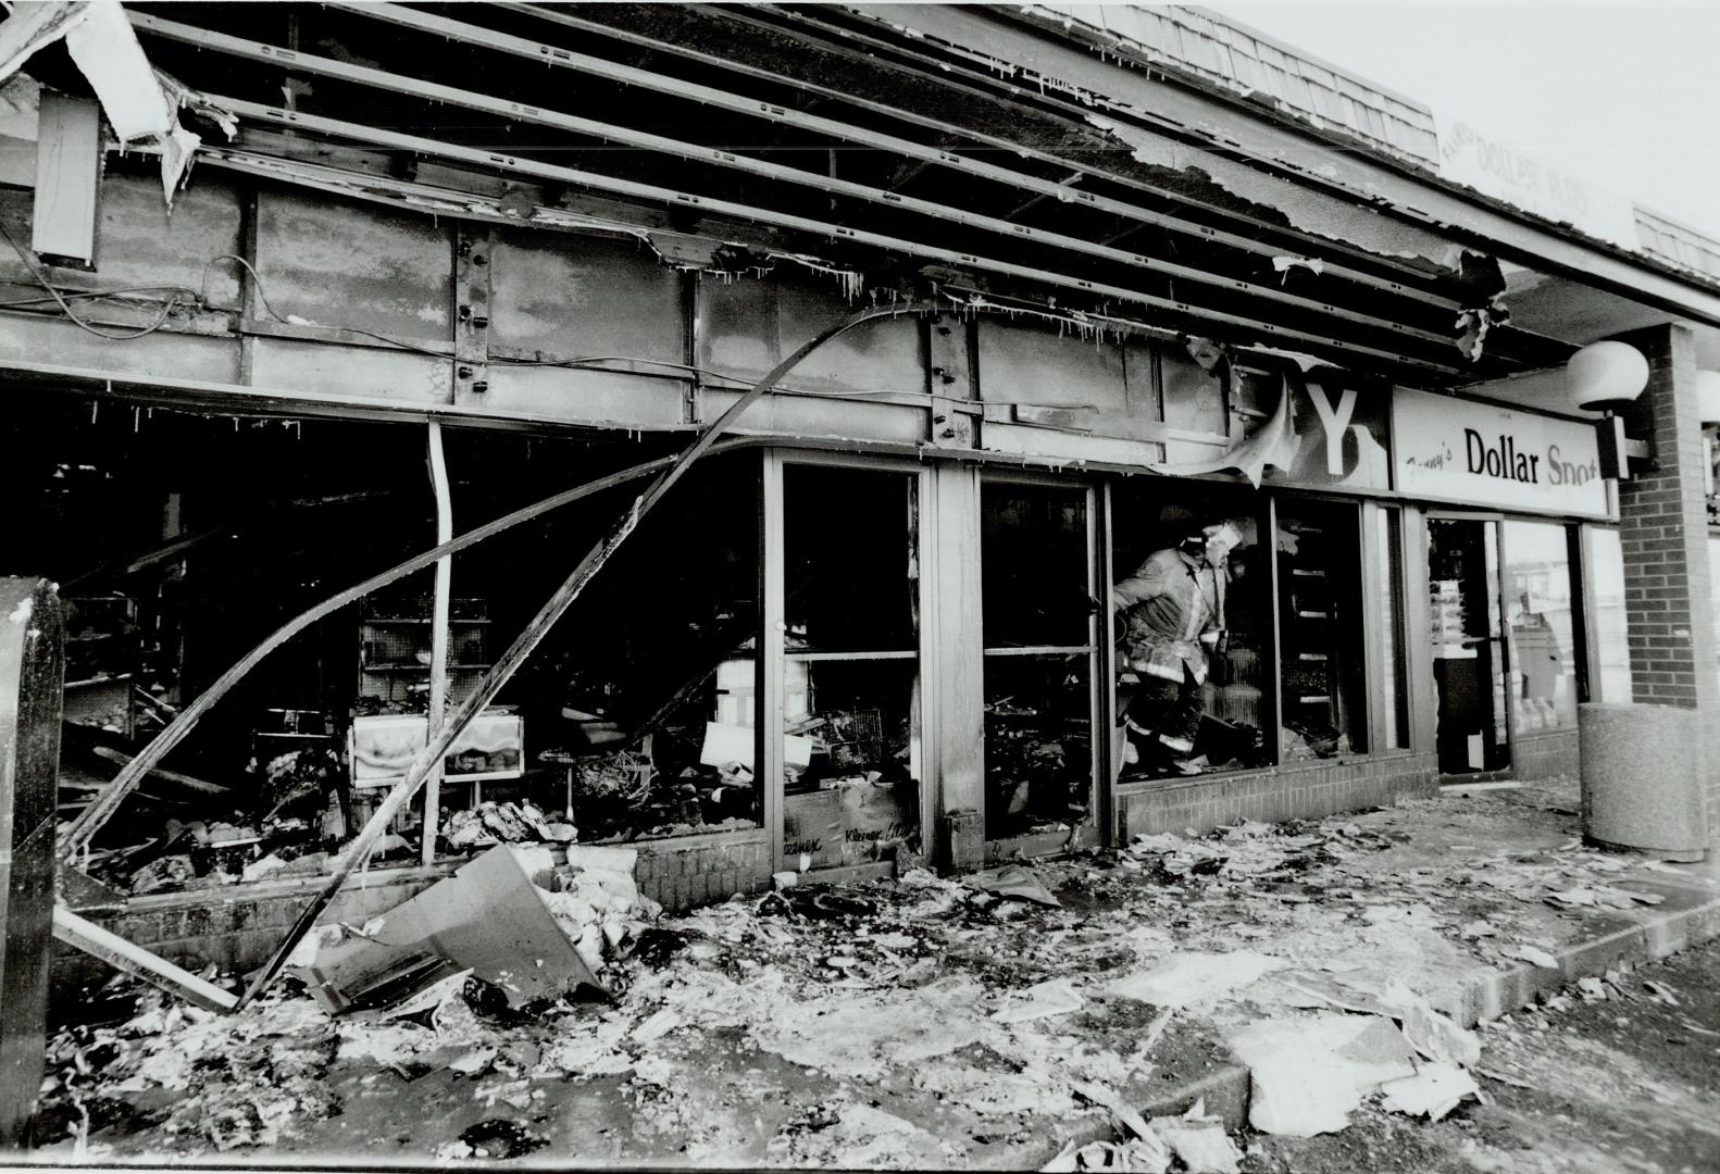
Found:
[{"label": "second-lowest long pale metal rail under the burnt canopy", "polygon": [[[932,199],[920,199],[917,196],[903,196],[900,193],[884,191],[879,187],[869,187],[867,184],[857,184],[853,180],[838,179],[832,174],[808,172],[808,170],[800,170],[796,167],[784,167],[781,163],[771,163],[765,160],[752,158],[748,155],[738,155],[734,151],[726,151],[722,148],[707,148],[707,146],[698,146],[695,143],[673,139],[662,134],[652,134],[648,131],[635,131],[631,127],[617,125],[614,122],[602,122],[599,119],[587,119],[581,115],[564,113],[559,110],[545,110],[542,107],[533,107],[521,101],[511,101],[507,98],[495,98],[492,95],[483,95],[471,89],[459,89],[456,86],[444,86],[440,83],[418,81],[415,77],[390,74],[380,69],[370,69],[366,65],[339,62],[329,57],[318,57],[315,53],[299,53],[292,50],[284,50],[280,46],[268,45],[265,41],[253,41],[246,38],[227,36],[224,33],[212,33],[208,29],[201,29],[191,24],[182,24],[179,21],[165,21],[162,17],[151,17],[146,14],[132,14],[132,22],[146,33],[155,33],[158,36],[167,36],[175,41],[184,41],[187,45],[196,45],[200,48],[208,48],[220,53],[229,53],[232,57],[239,57],[244,60],[256,60],[268,64],[284,64],[286,60],[291,60],[292,69],[298,72],[316,74],[322,77],[337,77],[341,81],[347,81],[358,86],[370,86],[390,93],[411,95],[415,98],[423,98],[425,101],[439,101],[454,107],[463,107],[466,110],[478,110],[482,113],[490,113],[499,119],[554,127],[557,131],[568,131],[571,134],[581,134],[605,143],[621,143],[645,151],[659,151],[662,155],[671,155],[695,163],[714,163],[728,170],[738,170],[774,182],[812,187],[815,191],[836,196],[846,196],[850,199],[858,199],[863,203],[891,206],[903,211],[913,211],[934,220],[958,223],[967,229],[994,232],[999,235],[1006,235],[1011,241],[1029,241],[1034,244],[1044,244],[1049,248],[1066,249],[1070,253],[1078,253],[1084,256],[1113,261],[1116,265],[1125,265],[1128,268],[1144,270],[1168,278],[1178,278],[1197,285],[1211,285],[1216,289],[1223,289],[1230,294],[1259,297],[1262,301],[1276,303],[1280,306],[1290,306],[1293,309],[1318,313],[1328,318],[1338,318],[1359,327],[1367,327],[1371,330],[1381,330],[1386,333],[1417,339],[1419,342],[1426,342],[1436,347],[1455,345],[1455,339],[1448,333],[1434,333],[1431,330],[1421,330],[1417,327],[1400,325],[1385,318],[1374,318],[1373,315],[1364,315],[1361,311],[1348,309],[1347,306],[1338,306],[1312,297],[1302,297],[1299,294],[1290,294],[1281,289],[1276,289],[1273,285],[1261,285],[1257,282],[1244,278],[1225,277],[1221,273],[1209,273],[1207,270],[1194,268],[1189,265],[1176,265],[1175,261],[1164,261],[1149,256],[1146,253],[1116,249],[1108,244],[1084,241],[1080,237],[1072,237],[1063,232],[1034,229],[1008,218],[987,217],[979,211],[953,208],[949,205],[941,205]],[[1065,179],[1063,182],[1053,182],[1049,186],[1051,193],[1054,193],[1060,201],[1068,203],[1073,198],[1084,194],[1072,191],[1073,184],[1078,179],[1080,174],[1075,174]],[[1041,198],[1042,196],[1034,196],[1034,201]]]}]

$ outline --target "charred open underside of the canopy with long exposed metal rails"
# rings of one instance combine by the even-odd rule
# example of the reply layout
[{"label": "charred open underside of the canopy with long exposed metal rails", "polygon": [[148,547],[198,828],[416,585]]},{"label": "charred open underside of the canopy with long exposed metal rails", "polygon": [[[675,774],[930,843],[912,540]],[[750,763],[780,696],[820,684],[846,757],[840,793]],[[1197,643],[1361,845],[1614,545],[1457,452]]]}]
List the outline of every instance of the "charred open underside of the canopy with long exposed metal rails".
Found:
[{"label": "charred open underside of the canopy with long exposed metal rails", "polygon": [[[1479,246],[1175,125],[1099,117],[1044,77],[1035,91],[924,38],[888,41],[841,9],[126,12],[148,60],[184,86],[201,162],[323,191],[628,232],[690,268],[795,261],[850,292],[1034,306],[1433,387],[1557,366],[1588,340],[1514,323]],[[52,52],[31,70],[77,83]],[[220,112],[237,120],[230,138]]]}]

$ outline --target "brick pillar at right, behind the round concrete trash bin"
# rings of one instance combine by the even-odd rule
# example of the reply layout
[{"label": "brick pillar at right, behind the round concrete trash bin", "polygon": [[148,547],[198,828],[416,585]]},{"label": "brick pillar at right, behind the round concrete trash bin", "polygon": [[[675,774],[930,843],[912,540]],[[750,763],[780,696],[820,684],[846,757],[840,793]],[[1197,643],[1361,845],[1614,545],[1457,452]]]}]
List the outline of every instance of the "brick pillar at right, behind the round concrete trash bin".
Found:
[{"label": "brick pillar at right, behind the round concrete trash bin", "polygon": [[1627,431],[1653,445],[1655,469],[1619,481],[1631,689],[1637,701],[1703,713],[1698,786],[1708,841],[1720,844],[1720,676],[1708,583],[1703,428],[1696,406],[1696,344],[1689,327],[1620,335],[1648,356],[1648,390]]}]

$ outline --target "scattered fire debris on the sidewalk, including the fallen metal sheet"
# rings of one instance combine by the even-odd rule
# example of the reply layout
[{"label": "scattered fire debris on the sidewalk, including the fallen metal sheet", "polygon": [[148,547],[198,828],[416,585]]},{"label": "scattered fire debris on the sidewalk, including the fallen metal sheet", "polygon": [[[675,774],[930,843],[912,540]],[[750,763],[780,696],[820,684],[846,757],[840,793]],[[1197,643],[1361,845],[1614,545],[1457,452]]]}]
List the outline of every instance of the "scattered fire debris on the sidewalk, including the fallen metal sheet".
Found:
[{"label": "scattered fire debris on the sidewalk, including the fallen metal sheet", "polygon": [[[1557,964],[1570,920],[1624,913],[1545,894],[1646,875],[1569,837],[1500,847],[1496,798],[1441,803],[977,877],[798,873],[678,918],[640,892],[631,847],[499,844],[365,925],[322,926],[298,978],[236,1016],[151,995],[131,1026],[62,1033],[48,1102],[65,1134],[72,1093],[95,1105],[86,1140],[119,1143],[115,1160],[310,1153],[342,1104],[435,1104],[404,1155],[497,1159],[542,1138],[617,1162],[1232,1171],[1219,1119],[1133,1105],[1235,1059],[1262,1133],[1340,1131],[1359,1107],[1404,1128],[1464,1114],[1483,1036],[1441,1012],[1453,976],[1529,961],[1507,957],[1519,949]],[[1433,820],[1452,846],[1404,830]],[[1622,973],[1598,988],[1620,1009],[1663,1002]],[[268,1049],[303,1050],[304,1079],[265,1085]],[[139,1116],[153,1098],[174,1098],[170,1131]],[[593,1105],[628,1124],[574,1141],[566,1122]],[[1115,1134],[1058,1152],[1084,1114]],[[475,1121],[490,1133],[463,1140]]]}]

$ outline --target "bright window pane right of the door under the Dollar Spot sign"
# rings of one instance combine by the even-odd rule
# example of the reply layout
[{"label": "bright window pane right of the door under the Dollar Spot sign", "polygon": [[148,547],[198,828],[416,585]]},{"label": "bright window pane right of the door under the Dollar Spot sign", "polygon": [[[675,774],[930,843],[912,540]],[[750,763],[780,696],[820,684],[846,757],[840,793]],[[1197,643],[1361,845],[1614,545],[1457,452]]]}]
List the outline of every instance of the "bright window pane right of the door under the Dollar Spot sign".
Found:
[{"label": "bright window pane right of the door under the Dollar Spot sign", "polygon": [[1505,631],[1519,734],[1577,724],[1570,545],[1563,526],[1505,523]]}]

